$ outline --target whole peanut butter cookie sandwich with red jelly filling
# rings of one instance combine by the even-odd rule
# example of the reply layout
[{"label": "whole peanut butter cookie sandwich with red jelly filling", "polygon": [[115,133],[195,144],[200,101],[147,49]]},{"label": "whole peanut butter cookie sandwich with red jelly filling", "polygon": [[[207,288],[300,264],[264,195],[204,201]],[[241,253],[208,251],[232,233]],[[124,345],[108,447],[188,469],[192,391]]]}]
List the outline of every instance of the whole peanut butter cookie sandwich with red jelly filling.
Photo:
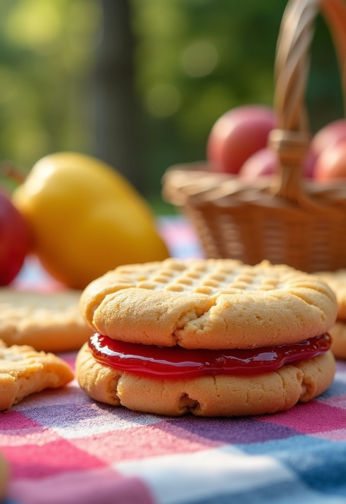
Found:
[{"label": "whole peanut butter cookie sandwich with red jelly filling", "polygon": [[94,331],[76,360],[93,399],[165,415],[274,413],[321,394],[337,303],[287,266],[169,259],[117,268],[82,293]]}]

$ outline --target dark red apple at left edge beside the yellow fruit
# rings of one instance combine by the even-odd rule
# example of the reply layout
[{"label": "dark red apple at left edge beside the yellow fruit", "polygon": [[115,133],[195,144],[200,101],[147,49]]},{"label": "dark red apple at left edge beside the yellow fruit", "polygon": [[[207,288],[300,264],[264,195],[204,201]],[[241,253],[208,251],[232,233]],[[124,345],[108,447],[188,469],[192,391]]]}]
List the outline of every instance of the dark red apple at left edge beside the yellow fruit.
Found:
[{"label": "dark red apple at left edge beside the yellow fruit", "polygon": [[16,277],[29,241],[26,221],[10,199],[0,192],[0,285],[7,285]]}]

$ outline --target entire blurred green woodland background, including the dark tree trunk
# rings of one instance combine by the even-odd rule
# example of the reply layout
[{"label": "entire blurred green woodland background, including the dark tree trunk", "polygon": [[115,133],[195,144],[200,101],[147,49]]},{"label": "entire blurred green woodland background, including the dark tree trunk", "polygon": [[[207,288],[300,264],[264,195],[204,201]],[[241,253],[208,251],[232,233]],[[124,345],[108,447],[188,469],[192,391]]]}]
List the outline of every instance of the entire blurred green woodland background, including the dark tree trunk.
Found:
[{"label": "entire blurred green woodland background, including the dark tree trunk", "polygon": [[[285,0],[2,0],[1,158],[29,170],[45,154],[96,155],[157,212],[171,164],[205,158],[215,120],[272,104]],[[311,129],[342,116],[320,20],[308,89]]]}]

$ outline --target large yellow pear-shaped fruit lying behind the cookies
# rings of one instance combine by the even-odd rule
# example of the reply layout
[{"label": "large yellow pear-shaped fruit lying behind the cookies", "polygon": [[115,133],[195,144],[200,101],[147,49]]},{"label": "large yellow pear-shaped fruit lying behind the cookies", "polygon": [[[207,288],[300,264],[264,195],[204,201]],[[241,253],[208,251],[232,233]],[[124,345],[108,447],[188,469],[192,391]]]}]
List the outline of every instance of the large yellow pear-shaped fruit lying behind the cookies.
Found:
[{"label": "large yellow pear-shaped fruit lying behind the cookies", "polygon": [[47,271],[74,288],[121,264],[161,261],[167,249],[145,200],[93,157],[56,153],[38,161],[13,195]]}]

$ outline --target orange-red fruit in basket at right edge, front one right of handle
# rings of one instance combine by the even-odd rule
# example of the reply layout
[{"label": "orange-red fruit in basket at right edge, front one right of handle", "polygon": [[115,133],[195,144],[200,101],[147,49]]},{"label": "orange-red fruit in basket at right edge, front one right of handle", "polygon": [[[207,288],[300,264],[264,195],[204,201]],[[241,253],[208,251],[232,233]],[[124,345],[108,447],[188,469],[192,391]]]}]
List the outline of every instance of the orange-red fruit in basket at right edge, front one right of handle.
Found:
[{"label": "orange-red fruit in basket at right edge, front one right of handle", "polygon": [[315,178],[330,180],[346,177],[346,139],[325,149],[317,158]]}]

